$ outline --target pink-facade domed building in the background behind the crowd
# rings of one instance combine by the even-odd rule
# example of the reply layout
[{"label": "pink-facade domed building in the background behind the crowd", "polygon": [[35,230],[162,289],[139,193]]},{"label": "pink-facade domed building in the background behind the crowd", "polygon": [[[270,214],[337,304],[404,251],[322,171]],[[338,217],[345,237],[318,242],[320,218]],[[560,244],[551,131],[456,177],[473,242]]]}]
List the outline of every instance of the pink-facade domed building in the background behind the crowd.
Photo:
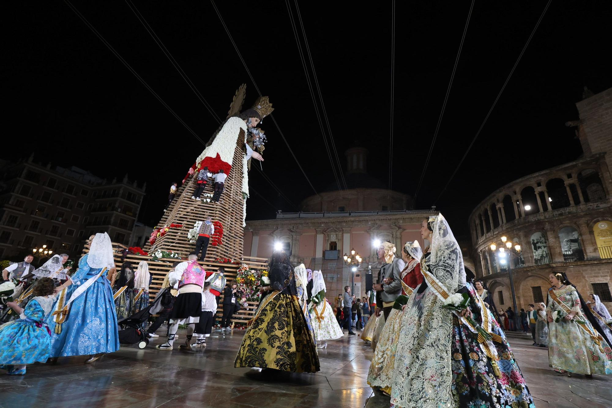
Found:
[{"label": "pink-facade domed building in the background behind the crowd", "polygon": [[[418,240],[425,247],[420,225],[436,212],[408,210],[409,195],[389,191],[367,174],[367,153],[361,147],[346,151],[347,189],[332,184],[327,191],[305,198],[299,213],[279,211],[275,219],[247,221],[244,255],[270,257],[275,244],[290,249],[293,263],[323,271],[331,298],[343,292],[344,285],[352,285],[357,296],[365,295],[368,271],[376,281],[380,267],[377,241],[391,241],[398,255],[406,241]],[[346,265],[343,255],[353,250],[362,262]]]}]

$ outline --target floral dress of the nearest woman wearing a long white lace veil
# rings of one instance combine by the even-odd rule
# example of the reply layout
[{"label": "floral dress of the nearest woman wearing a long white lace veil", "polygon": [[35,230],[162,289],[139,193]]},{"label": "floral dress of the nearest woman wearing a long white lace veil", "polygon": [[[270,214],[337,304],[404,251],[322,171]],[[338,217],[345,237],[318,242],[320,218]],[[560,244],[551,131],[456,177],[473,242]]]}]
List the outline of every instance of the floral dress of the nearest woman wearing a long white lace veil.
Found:
[{"label": "floral dress of the nearest woman wearing a long white lace veil", "polygon": [[[422,270],[430,271],[453,293],[469,293],[469,308],[480,321],[476,291],[465,282],[457,243],[439,248],[436,262],[423,255]],[[454,285],[454,286],[453,286]],[[428,287],[417,287],[408,300],[395,353],[391,403],[395,407],[535,408],[504,331],[489,314],[499,360],[494,369],[476,335],[442,309],[442,300]]]}]

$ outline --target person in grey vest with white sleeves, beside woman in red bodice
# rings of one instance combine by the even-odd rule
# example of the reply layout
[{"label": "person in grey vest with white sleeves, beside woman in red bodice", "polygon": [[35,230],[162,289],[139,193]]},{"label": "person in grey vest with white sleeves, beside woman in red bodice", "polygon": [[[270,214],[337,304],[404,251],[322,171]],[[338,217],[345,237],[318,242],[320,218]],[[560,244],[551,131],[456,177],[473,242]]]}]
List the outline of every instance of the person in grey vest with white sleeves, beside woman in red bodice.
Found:
[{"label": "person in grey vest with white sleeves, beside woman in red bodice", "polygon": [[385,321],[389,317],[395,299],[401,295],[400,273],[406,266],[401,258],[395,257],[395,245],[389,241],[381,243],[378,247],[378,259],[383,266],[378,271],[378,284],[372,285],[376,290],[376,316],[384,314]]}]

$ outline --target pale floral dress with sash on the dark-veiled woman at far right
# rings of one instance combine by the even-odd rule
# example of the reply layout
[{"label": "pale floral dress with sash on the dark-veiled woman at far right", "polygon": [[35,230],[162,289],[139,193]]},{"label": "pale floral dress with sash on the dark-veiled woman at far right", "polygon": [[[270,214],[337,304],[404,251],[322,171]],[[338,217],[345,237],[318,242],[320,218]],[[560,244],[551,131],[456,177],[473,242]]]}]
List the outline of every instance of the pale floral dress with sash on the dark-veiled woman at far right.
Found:
[{"label": "pale floral dress with sash on the dark-veiled woman at far right", "polygon": [[[552,288],[549,289],[546,310],[565,315],[561,305],[553,300],[551,291]],[[567,285],[563,289],[554,290],[554,295],[572,312],[577,312],[576,319],[583,320],[584,326],[591,333],[598,334],[584,316],[575,287]],[[612,349],[605,340],[600,344],[601,347],[573,320],[561,318],[558,323],[548,323],[548,363],[554,369],[578,374],[612,374]]]}]

